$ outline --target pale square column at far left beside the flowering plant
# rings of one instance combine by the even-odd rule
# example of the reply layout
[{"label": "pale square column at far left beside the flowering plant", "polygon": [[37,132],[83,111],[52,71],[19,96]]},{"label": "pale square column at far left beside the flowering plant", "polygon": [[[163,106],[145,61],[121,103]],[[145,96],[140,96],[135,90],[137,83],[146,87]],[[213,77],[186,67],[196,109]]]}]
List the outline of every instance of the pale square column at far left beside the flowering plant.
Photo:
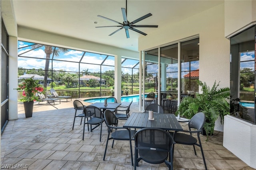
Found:
[{"label": "pale square column at far left beside the flowering plant", "polygon": [[18,119],[18,39],[9,36],[9,120]]}]

